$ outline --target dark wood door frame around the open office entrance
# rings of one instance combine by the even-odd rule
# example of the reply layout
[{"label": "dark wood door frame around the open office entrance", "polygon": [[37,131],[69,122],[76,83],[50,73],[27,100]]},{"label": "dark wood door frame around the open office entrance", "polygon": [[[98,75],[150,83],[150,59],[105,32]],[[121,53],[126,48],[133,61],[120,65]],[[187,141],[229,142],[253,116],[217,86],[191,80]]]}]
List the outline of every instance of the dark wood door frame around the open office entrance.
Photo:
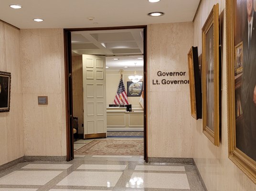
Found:
[{"label": "dark wood door frame around the open office entrance", "polygon": [[65,93],[66,93],[66,141],[67,161],[74,159],[74,138],[73,138],[73,97],[72,97],[72,55],[71,55],[71,32],[75,31],[106,31],[121,29],[143,29],[144,48],[144,160],[148,162],[148,122],[147,122],[147,25],[104,27],[104,28],[74,28],[64,29],[64,59],[65,59]]}]

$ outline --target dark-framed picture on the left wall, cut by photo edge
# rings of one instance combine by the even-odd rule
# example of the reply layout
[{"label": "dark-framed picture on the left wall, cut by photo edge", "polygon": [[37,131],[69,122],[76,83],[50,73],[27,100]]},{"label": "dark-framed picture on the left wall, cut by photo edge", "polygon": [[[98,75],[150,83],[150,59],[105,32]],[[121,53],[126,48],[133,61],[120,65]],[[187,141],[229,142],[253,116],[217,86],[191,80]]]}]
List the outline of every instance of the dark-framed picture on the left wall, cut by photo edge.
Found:
[{"label": "dark-framed picture on the left wall, cut by photo edge", "polygon": [[10,111],[11,73],[0,71],[0,112]]}]

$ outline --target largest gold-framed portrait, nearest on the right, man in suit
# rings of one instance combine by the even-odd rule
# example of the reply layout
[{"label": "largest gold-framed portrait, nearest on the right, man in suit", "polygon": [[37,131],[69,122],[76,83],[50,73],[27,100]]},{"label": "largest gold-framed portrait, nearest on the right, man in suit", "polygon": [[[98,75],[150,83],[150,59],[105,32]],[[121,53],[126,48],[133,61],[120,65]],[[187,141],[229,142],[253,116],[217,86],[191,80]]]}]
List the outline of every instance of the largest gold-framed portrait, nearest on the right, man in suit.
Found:
[{"label": "largest gold-framed portrait, nearest on the right, man in suit", "polygon": [[255,4],[254,0],[226,0],[228,157],[254,183],[256,183]]}]

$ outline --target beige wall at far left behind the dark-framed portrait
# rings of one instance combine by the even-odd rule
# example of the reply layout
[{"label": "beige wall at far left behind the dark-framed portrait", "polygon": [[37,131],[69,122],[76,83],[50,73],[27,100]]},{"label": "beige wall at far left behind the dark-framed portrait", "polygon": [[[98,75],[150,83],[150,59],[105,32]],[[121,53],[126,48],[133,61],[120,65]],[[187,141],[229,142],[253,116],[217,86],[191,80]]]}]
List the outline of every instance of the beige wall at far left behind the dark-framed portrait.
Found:
[{"label": "beige wall at far left behind the dark-framed portrait", "polygon": [[0,21],[0,71],[11,72],[10,112],[0,113],[0,165],[24,155],[20,32]]}]

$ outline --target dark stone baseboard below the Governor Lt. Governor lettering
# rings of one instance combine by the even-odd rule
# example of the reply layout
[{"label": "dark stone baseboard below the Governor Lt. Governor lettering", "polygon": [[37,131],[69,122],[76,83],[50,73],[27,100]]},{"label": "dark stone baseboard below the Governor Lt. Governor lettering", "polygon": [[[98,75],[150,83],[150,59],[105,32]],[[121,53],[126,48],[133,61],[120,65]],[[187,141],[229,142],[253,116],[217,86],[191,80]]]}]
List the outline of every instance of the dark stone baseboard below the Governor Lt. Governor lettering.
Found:
[{"label": "dark stone baseboard below the Governor Lt. Governor lettering", "polygon": [[155,163],[179,163],[179,164],[194,164],[194,159],[192,158],[164,158],[164,157],[149,157],[149,162]]}]

